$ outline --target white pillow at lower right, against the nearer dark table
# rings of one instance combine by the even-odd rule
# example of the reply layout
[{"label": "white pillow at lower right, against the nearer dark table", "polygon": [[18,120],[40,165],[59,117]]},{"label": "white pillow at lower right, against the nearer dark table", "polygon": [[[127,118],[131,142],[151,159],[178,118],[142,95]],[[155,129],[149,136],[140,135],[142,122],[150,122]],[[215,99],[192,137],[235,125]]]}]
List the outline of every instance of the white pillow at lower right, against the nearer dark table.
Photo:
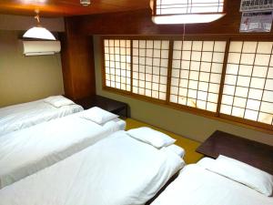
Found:
[{"label": "white pillow at lower right, against the nearer dark table", "polygon": [[268,197],[272,195],[273,176],[236,159],[220,155],[209,170],[238,181]]}]

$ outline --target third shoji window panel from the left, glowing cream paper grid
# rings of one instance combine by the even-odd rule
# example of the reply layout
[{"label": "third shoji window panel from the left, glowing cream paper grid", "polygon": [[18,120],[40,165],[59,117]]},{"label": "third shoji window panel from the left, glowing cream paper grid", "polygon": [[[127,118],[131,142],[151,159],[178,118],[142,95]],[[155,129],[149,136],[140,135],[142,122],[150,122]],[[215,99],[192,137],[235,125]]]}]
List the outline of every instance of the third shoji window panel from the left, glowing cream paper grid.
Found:
[{"label": "third shoji window panel from the left, glowing cream paper grid", "polygon": [[170,102],[217,111],[225,41],[175,41]]}]

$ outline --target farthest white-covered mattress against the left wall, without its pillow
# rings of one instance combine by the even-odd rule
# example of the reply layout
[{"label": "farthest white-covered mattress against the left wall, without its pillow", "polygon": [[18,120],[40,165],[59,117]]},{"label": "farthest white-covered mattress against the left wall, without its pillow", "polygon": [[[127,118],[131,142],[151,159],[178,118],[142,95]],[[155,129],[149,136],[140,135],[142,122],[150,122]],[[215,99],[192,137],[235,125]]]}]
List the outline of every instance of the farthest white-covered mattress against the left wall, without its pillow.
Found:
[{"label": "farthest white-covered mattress against the left wall, without its pillow", "polygon": [[56,108],[44,102],[44,99],[0,108],[0,138],[2,135],[28,128],[54,118],[61,118],[84,110],[79,105]]}]

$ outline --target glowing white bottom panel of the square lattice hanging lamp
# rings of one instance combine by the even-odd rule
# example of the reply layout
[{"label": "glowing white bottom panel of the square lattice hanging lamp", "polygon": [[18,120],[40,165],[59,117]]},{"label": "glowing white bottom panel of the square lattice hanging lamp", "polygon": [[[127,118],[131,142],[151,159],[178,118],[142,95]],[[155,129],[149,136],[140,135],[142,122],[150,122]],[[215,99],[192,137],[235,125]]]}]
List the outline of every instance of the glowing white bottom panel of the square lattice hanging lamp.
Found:
[{"label": "glowing white bottom panel of the square lattice hanging lamp", "polygon": [[152,20],[157,25],[196,24],[216,21],[225,14],[206,15],[154,15]]}]

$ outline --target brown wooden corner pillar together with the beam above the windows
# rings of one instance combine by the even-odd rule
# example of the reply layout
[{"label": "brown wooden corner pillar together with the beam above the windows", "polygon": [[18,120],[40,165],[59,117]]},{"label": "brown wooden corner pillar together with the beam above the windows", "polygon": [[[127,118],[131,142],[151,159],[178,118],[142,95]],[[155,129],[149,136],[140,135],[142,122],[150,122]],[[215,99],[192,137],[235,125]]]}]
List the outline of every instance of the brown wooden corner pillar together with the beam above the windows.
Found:
[{"label": "brown wooden corner pillar together with the beam above the windows", "polygon": [[[227,5],[225,5],[227,15],[209,24],[187,25],[186,35],[238,35],[241,18],[239,5],[238,0],[227,0]],[[88,36],[182,36],[183,30],[183,25],[155,25],[151,21],[150,9],[66,17],[66,35],[63,37],[65,45],[63,45],[62,56],[66,95],[79,98],[95,93],[94,54],[90,45],[92,39]],[[272,32],[248,36],[272,36]]]}]

